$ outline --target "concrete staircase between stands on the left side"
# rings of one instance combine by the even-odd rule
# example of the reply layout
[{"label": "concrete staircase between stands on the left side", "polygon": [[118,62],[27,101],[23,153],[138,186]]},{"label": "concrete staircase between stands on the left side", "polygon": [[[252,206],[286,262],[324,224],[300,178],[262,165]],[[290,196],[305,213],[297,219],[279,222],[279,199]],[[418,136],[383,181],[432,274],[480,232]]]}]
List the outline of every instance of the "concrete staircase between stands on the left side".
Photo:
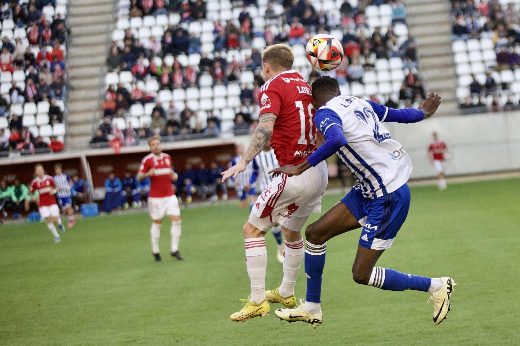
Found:
[{"label": "concrete staircase between stands on the left side", "polygon": [[114,29],[113,0],[71,0],[72,48],[69,75],[69,147],[85,147],[92,138],[98,107],[98,85],[107,58],[107,30]]}]

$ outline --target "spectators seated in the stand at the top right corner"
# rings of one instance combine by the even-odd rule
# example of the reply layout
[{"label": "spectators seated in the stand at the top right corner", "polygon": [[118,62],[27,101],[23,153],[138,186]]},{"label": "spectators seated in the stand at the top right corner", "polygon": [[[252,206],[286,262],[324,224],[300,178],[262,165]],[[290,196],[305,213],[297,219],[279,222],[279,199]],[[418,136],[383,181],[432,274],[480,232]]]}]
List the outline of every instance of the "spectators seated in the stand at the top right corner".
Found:
[{"label": "spectators seated in the stand at the top right corner", "polygon": [[470,94],[460,104],[463,113],[520,108],[510,82],[497,82],[493,77],[497,76],[495,71],[520,68],[519,7],[513,2],[502,5],[495,0],[452,2],[453,40],[490,39],[496,54],[496,61],[486,62],[485,77],[471,75]]}]

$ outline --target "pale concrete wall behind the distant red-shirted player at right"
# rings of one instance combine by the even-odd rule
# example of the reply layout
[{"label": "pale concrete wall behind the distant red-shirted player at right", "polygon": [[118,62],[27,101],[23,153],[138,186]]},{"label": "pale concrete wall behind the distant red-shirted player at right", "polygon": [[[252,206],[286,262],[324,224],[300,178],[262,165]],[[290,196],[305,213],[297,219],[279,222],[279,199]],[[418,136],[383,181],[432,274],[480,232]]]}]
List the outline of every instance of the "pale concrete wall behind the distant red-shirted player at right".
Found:
[{"label": "pale concrete wall behind the distant red-shirted player at right", "polygon": [[446,175],[520,169],[520,112],[437,116],[415,124],[387,123],[393,138],[412,158],[412,179],[435,177],[427,157],[432,133],[448,145]]}]

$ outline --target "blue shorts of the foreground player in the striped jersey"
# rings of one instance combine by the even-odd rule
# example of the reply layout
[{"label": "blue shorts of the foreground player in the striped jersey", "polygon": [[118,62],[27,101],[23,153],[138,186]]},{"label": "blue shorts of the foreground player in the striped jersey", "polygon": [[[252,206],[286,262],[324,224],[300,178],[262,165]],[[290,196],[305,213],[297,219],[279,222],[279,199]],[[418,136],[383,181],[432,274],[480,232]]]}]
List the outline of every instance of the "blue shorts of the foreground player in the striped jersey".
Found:
[{"label": "blue shorts of the foreground player in the striped jersey", "polygon": [[408,184],[387,195],[366,198],[359,185],[341,199],[363,226],[359,245],[367,249],[384,250],[392,247],[395,236],[408,215],[410,188]]}]

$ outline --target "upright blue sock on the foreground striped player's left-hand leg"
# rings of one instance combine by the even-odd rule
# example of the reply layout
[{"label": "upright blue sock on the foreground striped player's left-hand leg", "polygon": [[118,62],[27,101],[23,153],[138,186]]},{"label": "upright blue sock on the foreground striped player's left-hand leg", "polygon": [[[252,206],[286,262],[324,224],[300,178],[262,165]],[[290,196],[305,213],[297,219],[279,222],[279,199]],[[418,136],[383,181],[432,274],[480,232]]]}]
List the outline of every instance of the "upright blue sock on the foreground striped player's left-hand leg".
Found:
[{"label": "upright blue sock on the foreground striped player's left-hand leg", "polygon": [[305,276],[307,276],[306,301],[321,302],[321,276],[325,267],[327,245],[314,245],[307,242],[305,249]]}]

